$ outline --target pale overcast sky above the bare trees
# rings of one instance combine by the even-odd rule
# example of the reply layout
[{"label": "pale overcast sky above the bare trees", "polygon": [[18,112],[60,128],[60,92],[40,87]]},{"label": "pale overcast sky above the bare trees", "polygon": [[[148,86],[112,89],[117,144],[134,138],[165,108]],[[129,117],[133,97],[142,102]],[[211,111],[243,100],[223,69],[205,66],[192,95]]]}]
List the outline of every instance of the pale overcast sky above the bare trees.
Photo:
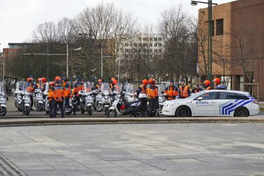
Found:
[{"label": "pale overcast sky above the bare trees", "polygon": [[[204,0],[207,1],[207,0]],[[214,0],[226,3],[231,0]],[[88,6],[113,2],[117,8],[131,12],[142,25],[155,24],[160,12],[171,6],[183,8],[195,17],[206,4],[191,6],[190,0],[0,0],[0,51],[8,42],[31,40],[36,26],[43,22],[58,22],[63,17],[74,18]]]}]

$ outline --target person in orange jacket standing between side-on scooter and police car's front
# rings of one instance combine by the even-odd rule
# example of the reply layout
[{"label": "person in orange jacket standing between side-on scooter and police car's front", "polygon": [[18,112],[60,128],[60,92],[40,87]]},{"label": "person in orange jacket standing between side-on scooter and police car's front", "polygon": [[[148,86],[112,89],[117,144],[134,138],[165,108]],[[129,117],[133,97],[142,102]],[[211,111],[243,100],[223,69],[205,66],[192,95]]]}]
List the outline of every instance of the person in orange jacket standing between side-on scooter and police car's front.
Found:
[{"label": "person in orange jacket standing between side-on scooter and police car's front", "polygon": [[149,85],[147,86],[147,98],[149,99],[149,117],[153,117],[153,111],[155,109],[155,98],[158,97],[158,90],[154,85],[154,79],[149,79]]}]

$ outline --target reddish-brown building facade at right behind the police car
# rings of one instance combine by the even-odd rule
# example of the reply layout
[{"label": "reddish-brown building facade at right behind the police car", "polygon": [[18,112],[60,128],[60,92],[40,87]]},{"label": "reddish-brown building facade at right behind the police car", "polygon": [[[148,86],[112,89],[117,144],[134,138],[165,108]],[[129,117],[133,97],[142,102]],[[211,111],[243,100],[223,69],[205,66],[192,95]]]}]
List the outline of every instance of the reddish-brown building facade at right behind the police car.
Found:
[{"label": "reddish-brown building facade at right behind the police car", "polygon": [[[264,99],[264,0],[238,0],[213,6],[213,77],[232,90]],[[199,10],[199,38],[208,38],[208,8]],[[207,40],[208,41],[208,40]],[[199,73],[208,61],[207,41],[199,43]],[[206,55],[204,57],[204,55]],[[247,86],[255,83],[258,86]]]}]

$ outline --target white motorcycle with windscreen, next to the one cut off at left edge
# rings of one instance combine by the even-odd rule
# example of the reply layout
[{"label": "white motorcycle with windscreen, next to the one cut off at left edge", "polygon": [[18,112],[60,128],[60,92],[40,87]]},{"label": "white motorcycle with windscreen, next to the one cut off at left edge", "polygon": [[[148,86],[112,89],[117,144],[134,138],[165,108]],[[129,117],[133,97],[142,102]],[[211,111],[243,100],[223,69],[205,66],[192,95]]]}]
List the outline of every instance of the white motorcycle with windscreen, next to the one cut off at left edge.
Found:
[{"label": "white motorcycle with windscreen, next to the one cut off at left edge", "polygon": [[23,111],[24,115],[29,115],[31,111],[31,97],[33,96],[30,92],[31,84],[28,82],[19,81],[19,93],[17,94],[17,103],[19,111]]}]

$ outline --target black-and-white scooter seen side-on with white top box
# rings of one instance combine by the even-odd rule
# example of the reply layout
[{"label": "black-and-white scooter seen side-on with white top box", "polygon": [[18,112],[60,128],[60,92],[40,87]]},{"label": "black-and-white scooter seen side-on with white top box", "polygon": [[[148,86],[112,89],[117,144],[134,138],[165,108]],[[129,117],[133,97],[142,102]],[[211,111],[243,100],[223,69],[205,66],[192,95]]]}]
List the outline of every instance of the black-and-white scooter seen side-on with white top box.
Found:
[{"label": "black-and-white scooter seen side-on with white top box", "polygon": [[[145,116],[145,110],[142,109],[142,102],[140,100],[127,102],[124,92],[121,92],[117,97],[118,98],[107,111],[106,115],[108,118],[116,118],[117,115],[133,115],[134,117]],[[145,95],[145,93],[140,93],[138,98],[147,99],[147,95]]]}]

